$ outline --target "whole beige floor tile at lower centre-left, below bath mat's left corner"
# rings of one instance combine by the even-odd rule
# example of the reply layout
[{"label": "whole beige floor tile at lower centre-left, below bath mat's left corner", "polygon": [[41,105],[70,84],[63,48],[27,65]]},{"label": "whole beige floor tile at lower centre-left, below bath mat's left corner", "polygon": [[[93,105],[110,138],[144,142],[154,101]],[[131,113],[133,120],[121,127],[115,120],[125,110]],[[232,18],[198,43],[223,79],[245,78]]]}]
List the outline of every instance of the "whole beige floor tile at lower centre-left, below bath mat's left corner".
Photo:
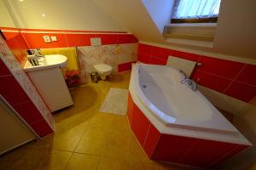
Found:
[{"label": "whole beige floor tile at lower centre-left, below bath mat's left corner", "polygon": [[106,144],[106,130],[106,128],[102,127],[89,127],[86,129],[75,152],[101,156],[103,147]]}]

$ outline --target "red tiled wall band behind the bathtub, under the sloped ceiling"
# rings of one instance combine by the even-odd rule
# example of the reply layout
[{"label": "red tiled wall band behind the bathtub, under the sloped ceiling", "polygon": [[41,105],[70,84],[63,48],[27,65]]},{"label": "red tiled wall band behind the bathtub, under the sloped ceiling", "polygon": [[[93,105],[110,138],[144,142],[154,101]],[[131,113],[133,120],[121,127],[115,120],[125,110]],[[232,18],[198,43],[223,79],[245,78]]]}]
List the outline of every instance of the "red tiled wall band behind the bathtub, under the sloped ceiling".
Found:
[{"label": "red tiled wall band behind the bathtub, under the sloped ceiling", "polygon": [[244,102],[249,102],[256,95],[256,65],[189,54],[143,43],[139,43],[137,60],[166,65],[168,55],[200,62],[202,65],[195,68],[192,78],[204,87]]}]

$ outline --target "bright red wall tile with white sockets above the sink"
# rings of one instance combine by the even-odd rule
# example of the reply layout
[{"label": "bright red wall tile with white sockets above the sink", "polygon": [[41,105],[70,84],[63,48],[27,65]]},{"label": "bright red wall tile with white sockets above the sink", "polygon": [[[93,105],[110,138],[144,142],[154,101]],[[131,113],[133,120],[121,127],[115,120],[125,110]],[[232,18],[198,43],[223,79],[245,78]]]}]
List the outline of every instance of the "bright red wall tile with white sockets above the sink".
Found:
[{"label": "bright red wall tile with white sockets above the sink", "polygon": [[[29,48],[66,48],[67,40],[65,34],[53,33],[22,33],[28,42]],[[57,42],[44,42],[43,36],[55,36]]]}]

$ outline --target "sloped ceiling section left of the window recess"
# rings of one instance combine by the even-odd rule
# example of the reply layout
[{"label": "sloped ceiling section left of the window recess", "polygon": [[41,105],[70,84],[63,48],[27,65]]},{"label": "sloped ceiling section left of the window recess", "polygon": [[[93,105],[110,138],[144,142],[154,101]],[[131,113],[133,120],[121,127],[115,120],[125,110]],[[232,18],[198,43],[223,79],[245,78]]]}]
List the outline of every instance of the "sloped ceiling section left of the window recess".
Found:
[{"label": "sloped ceiling section left of the window recess", "polygon": [[164,38],[155,26],[148,11],[140,0],[94,0],[114,20],[139,40],[163,42]]}]

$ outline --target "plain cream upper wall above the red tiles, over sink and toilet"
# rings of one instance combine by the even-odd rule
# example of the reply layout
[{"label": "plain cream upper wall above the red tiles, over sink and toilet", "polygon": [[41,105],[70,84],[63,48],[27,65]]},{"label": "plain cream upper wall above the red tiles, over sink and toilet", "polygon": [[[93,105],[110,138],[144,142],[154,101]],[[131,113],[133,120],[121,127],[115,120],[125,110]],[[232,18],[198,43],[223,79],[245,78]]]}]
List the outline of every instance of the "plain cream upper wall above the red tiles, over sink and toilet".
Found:
[{"label": "plain cream upper wall above the red tiles, over sink and toilet", "polygon": [[[19,28],[125,31],[90,0],[5,1]],[[45,14],[43,17],[42,14]]]}]

